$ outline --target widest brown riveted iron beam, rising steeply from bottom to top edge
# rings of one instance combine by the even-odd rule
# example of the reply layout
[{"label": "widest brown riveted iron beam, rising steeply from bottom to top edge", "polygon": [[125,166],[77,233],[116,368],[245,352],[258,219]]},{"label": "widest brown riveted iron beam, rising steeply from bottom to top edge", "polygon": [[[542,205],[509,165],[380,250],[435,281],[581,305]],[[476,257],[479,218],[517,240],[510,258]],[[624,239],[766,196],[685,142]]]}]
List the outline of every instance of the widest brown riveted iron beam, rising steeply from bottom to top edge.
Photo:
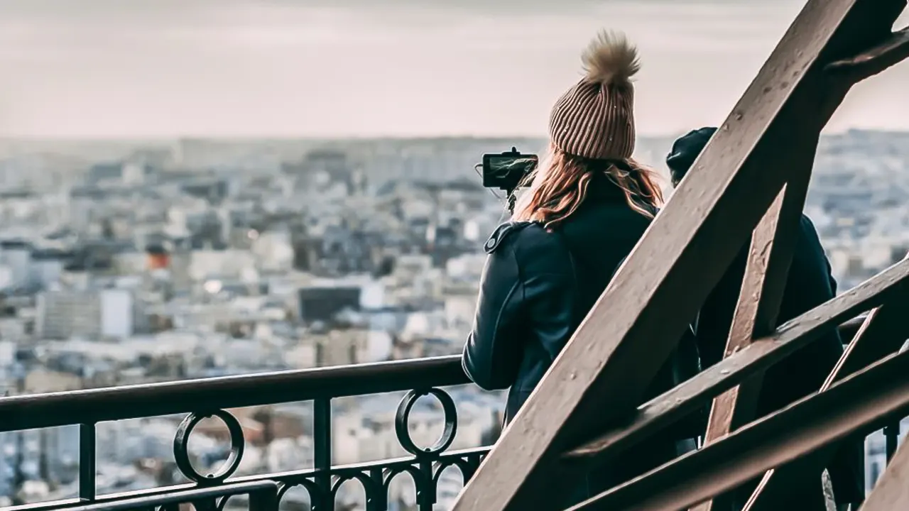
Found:
[{"label": "widest brown riveted iron beam, rising steeply from bottom to top edge", "polygon": [[634,416],[684,328],[794,172],[798,159],[789,155],[801,135],[820,129],[842,102],[846,90],[824,94],[824,65],[871,45],[881,5],[894,1],[804,6],[454,510],[562,505],[577,474],[554,462],[579,439]]}]

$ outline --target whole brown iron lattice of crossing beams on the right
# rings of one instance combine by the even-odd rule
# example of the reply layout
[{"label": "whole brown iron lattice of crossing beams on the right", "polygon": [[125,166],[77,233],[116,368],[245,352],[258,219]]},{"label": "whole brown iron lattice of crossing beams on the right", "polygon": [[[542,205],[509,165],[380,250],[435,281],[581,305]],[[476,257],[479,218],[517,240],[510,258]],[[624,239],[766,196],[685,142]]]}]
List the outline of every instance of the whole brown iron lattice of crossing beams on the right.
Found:
[{"label": "whole brown iron lattice of crossing beams on the right", "polygon": [[[909,29],[894,29],[905,7],[905,0],[808,0],[455,511],[557,509],[586,471],[711,401],[704,447],[572,509],[706,510],[714,497],[762,476],[747,509],[799,509],[794,489],[820,484],[838,442],[909,413],[909,352],[900,352],[909,337],[901,316],[909,260],[774,328],[821,130],[853,85],[909,56]],[[727,356],[641,405],[745,243]],[[755,420],[750,396],[764,369],[863,312],[820,392]],[[894,453],[861,509],[909,509],[901,474],[909,474],[909,446]]]}]

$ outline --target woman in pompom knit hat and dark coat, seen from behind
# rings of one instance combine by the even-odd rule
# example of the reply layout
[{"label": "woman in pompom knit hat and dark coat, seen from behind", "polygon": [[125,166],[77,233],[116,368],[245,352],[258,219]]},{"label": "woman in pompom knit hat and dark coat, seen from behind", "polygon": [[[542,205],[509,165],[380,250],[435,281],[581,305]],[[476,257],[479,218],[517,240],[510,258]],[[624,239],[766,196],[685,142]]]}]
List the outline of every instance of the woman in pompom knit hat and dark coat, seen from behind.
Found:
[{"label": "woman in pompom knit hat and dark coat, seen from behind", "polygon": [[[601,34],[584,53],[586,75],[555,104],[550,154],[510,222],[486,242],[464,371],[487,390],[509,388],[506,423],[539,384],[662,204],[655,174],[632,159],[634,46]],[[694,349],[694,341],[690,343]],[[676,351],[679,351],[678,349]],[[692,365],[683,366],[682,361]],[[674,355],[655,396],[697,371]],[[621,392],[620,389],[616,389]],[[675,438],[629,451],[583,493],[621,483],[676,456]]]}]

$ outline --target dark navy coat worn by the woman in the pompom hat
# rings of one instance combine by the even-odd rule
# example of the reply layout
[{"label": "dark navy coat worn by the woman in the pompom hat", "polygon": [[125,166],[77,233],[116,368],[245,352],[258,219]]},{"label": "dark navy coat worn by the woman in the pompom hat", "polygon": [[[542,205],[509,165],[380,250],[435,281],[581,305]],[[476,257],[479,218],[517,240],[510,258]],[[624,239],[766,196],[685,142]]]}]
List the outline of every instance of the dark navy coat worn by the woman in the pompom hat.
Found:
[{"label": "dark navy coat worn by the woman in the pompom hat", "polygon": [[[602,175],[592,181],[584,203],[551,232],[512,222],[489,238],[463,361],[476,385],[510,387],[506,420],[530,396],[650,221]],[[697,372],[694,341],[684,344],[687,351],[676,350],[649,396]]]}]

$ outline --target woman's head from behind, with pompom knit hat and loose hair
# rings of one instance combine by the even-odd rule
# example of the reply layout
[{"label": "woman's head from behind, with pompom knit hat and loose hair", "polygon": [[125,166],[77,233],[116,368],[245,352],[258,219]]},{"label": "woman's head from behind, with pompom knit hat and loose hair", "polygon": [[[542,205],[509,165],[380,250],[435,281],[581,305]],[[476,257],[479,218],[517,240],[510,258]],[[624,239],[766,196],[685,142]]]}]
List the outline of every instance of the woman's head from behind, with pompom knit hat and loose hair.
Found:
[{"label": "woman's head from behind, with pompom knit hat and loose hair", "polygon": [[621,34],[603,32],[582,56],[584,77],[555,103],[549,119],[550,152],[515,208],[516,220],[547,228],[572,215],[595,175],[622,189],[628,205],[653,216],[663,195],[656,174],[632,159],[637,50]]}]

